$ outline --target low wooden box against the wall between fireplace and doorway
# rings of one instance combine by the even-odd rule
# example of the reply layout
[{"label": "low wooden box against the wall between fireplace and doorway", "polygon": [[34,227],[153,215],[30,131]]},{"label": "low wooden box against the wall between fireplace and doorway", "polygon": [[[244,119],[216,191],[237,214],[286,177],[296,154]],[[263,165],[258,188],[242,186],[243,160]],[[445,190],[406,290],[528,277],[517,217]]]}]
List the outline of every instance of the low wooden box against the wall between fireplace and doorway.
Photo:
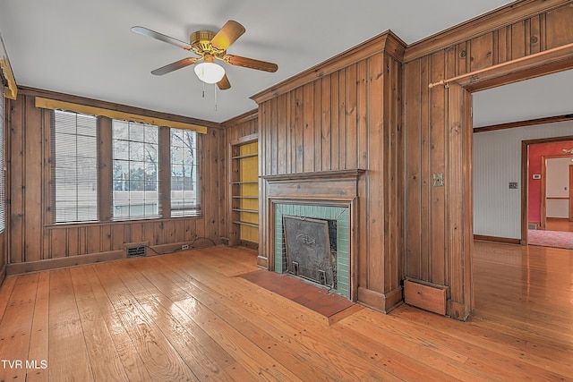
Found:
[{"label": "low wooden box against the wall between fireplace and doorway", "polygon": [[404,301],[416,308],[446,315],[448,287],[420,280],[404,281]]}]

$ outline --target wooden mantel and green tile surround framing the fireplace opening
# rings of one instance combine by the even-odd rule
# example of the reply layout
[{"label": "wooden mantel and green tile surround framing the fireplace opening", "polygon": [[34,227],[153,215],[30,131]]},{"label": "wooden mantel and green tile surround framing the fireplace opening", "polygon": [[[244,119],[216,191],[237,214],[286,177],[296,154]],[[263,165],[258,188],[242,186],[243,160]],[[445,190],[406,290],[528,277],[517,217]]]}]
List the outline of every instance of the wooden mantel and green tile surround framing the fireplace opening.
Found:
[{"label": "wooden mantel and green tile surround framing the fireplace opening", "polygon": [[345,169],[296,174],[261,176],[261,245],[257,263],[271,271],[285,273],[283,257],[283,216],[335,221],[336,293],[357,301],[356,242],[358,238],[358,200],[367,172]]}]

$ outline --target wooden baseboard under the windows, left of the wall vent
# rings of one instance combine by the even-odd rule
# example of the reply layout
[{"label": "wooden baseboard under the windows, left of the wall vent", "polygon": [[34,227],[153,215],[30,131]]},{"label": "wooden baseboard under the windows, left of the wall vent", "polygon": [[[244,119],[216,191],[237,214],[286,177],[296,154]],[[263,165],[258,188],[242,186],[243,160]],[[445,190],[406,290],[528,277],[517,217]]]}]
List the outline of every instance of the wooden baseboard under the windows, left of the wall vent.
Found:
[{"label": "wooden baseboard under the windows, left of the wall vent", "polygon": [[125,258],[126,258],[125,250],[113,250],[110,252],[73,256],[70,258],[46,259],[39,261],[30,261],[27,263],[15,263],[15,264],[8,264],[6,266],[6,275],[19,275],[22,273],[39,272],[42,270],[56,269],[62,267],[75,267],[80,265],[87,265],[103,261],[112,261]]}]

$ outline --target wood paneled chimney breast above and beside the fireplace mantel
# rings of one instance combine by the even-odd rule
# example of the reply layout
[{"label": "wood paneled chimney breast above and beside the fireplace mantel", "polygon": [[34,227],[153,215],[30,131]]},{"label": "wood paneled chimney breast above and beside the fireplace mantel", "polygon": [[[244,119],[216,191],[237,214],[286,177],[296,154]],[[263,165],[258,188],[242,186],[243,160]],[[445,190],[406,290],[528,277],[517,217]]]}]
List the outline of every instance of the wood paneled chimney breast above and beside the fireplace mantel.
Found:
[{"label": "wood paneled chimney breast above and beside the fireplace mantel", "polygon": [[[387,32],[253,96],[260,105],[262,177],[366,170],[358,184],[359,217],[353,228],[358,237],[358,264],[351,266],[358,269],[354,297],[383,311],[402,301],[404,47]],[[273,251],[266,188],[263,183],[263,267],[269,267]]]}]

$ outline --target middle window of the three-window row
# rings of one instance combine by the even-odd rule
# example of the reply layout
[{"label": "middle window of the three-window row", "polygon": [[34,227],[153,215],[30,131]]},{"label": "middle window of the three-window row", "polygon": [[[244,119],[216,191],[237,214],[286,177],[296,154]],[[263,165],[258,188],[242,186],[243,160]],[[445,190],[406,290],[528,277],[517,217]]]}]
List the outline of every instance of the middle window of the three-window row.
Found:
[{"label": "middle window of the three-window row", "polygon": [[159,216],[157,126],[113,120],[113,216]]}]

